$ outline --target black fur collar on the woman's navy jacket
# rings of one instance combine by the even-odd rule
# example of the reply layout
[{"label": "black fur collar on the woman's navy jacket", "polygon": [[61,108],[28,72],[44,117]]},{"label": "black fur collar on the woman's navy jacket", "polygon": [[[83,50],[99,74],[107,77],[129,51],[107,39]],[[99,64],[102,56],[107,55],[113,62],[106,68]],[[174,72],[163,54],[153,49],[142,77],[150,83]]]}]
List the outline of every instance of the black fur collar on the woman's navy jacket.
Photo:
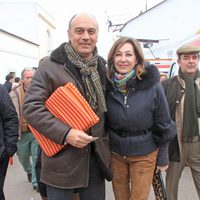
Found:
[{"label": "black fur collar on the woman's navy jacket", "polygon": [[[146,72],[141,76],[141,80],[132,78],[127,82],[127,87],[145,90],[160,81],[160,74],[155,65],[148,65],[145,67],[145,70]],[[113,90],[113,84],[111,82],[107,83],[107,89],[108,91]]]}]

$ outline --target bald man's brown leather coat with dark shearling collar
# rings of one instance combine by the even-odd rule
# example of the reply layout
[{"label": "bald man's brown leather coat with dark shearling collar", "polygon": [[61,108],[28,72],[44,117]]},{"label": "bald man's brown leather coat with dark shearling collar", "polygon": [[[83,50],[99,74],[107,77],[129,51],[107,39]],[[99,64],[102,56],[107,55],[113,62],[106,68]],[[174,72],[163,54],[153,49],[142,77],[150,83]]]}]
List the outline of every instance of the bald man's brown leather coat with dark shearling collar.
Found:
[{"label": "bald man's brown leather coat with dark shearling collar", "polygon": [[[98,58],[98,72],[102,87],[105,89],[105,62]],[[34,128],[52,141],[63,144],[71,127],[55,118],[45,107],[48,97],[59,87],[72,82],[85,96],[84,86],[75,66],[68,60],[64,44],[54,50],[38,67],[31,85],[26,92],[23,115]],[[108,180],[110,173],[110,151],[108,137],[104,128],[104,115],[98,124],[89,131],[101,139],[95,141],[95,151],[101,163],[101,169]],[[53,157],[42,154],[42,182],[58,188],[86,187],[88,185],[90,145],[75,148],[67,145]]]}]

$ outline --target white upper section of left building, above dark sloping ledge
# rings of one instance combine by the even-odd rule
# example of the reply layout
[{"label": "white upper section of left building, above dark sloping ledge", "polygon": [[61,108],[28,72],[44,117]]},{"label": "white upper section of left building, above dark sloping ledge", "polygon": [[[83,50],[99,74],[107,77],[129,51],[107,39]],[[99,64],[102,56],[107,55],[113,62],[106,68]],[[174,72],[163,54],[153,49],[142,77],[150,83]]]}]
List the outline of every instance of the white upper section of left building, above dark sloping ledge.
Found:
[{"label": "white upper section of left building, above dark sloping ledge", "polygon": [[37,4],[0,2],[0,27],[34,43],[39,43]]}]

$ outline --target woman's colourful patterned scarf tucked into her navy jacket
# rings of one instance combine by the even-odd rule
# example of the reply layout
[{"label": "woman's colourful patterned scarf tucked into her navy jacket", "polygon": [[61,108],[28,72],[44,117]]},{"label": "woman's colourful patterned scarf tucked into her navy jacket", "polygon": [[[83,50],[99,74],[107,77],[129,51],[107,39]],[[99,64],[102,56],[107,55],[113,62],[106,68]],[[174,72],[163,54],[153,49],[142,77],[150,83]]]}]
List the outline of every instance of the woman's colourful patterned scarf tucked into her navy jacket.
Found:
[{"label": "woman's colourful patterned scarf tucked into her navy jacket", "polygon": [[131,70],[127,74],[118,74],[117,72],[114,73],[114,83],[117,87],[117,89],[122,93],[126,94],[127,92],[127,86],[126,83],[129,79],[131,79],[135,75],[135,70]]}]

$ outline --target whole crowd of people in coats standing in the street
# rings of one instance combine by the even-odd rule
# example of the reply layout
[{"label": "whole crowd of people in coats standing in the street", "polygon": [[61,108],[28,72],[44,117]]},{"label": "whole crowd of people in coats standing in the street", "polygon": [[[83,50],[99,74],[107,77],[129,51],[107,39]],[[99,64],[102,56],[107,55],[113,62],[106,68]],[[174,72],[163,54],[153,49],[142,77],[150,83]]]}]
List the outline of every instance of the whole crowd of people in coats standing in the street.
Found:
[{"label": "whole crowd of people in coats standing in the street", "polygon": [[[179,73],[163,80],[136,39],[117,39],[105,60],[98,34],[94,16],[74,15],[68,42],[37,70],[8,74],[0,85],[0,200],[15,152],[43,200],[105,200],[105,180],[116,200],[147,200],[155,171],[166,171],[167,199],[177,200],[186,164],[200,198],[200,48],[179,47]],[[63,123],[45,106],[68,82],[99,119],[88,130]],[[64,148],[46,155],[29,125]]]}]

